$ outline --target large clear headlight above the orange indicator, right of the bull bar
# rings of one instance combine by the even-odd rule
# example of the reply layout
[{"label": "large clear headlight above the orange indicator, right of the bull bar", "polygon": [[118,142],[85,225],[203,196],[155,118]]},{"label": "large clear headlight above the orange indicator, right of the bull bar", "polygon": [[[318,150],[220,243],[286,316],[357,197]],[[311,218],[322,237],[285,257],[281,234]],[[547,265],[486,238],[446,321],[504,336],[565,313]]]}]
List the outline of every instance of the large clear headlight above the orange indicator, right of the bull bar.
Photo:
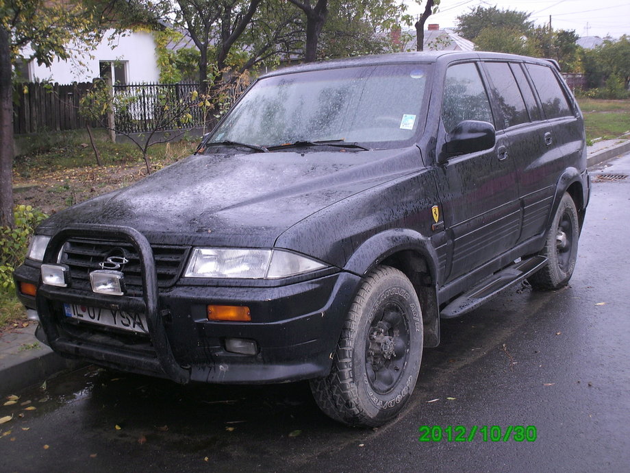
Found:
[{"label": "large clear headlight above the orange indicator, right of the bull bar", "polygon": [[195,248],[184,276],[279,279],[325,267],[319,261],[283,250]]}]

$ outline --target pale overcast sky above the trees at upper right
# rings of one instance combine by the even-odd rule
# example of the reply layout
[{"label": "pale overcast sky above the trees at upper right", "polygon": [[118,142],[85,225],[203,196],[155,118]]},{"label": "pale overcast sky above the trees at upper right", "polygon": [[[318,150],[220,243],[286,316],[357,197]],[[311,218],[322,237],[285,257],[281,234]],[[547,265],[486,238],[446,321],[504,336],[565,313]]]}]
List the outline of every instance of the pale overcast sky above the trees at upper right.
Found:
[{"label": "pale overcast sky above the trees at upper right", "polygon": [[[420,6],[414,0],[405,3],[409,5],[407,11],[414,15],[425,9],[424,0]],[[438,23],[440,28],[455,27],[457,16],[477,5],[529,12],[529,19],[536,25],[549,24],[551,15],[553,29],[574,29],[579,36],[630,36],[629,0],[442,0],[440,11],[429,16],[425,29],[429,23]]]}]

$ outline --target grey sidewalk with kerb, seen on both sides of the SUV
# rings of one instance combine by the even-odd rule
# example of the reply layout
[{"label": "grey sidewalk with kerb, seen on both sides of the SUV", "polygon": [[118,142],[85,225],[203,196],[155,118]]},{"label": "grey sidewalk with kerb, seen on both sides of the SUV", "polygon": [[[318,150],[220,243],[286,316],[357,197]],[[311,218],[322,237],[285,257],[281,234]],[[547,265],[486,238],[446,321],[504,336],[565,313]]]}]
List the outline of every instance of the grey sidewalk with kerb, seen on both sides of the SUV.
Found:
[{"label": "grey sidewalk with kerb, seen on both sides of the SUV", "polygon": [[[630,139],[598,141],[588,147],[588,167],[599,165],[630,151]],[[26,328],[0,333],[0,396],[6,396],[29,385],[81,363],[64,359],[35,338],[36,322]]]}]

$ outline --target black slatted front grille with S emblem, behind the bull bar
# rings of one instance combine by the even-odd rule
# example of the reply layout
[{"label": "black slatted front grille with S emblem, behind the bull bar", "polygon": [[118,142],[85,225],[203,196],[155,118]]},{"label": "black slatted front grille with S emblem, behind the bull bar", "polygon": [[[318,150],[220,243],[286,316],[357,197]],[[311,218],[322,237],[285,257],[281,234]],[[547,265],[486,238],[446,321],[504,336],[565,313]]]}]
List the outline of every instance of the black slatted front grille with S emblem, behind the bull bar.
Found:
[{"label": "black slatted front grille with S emblem, behind the bull bar", "polygon": [[[177,278],[188,259],[189,247],[172,245],[151,245],[157,273],[157,286],[169,287],[175,284]],[[121,241],[68,239],[63,246],[61,263],[70,267],[73,284],[79,287],[90,284],[90,272],[101,269],[103,263],[110,256],[124,256],[125,263],[119,271],[125,275],[125,286],[142,289],[142,271],[140,256],[131,243]],[[130,294],[131,295],[131,294]]]}]

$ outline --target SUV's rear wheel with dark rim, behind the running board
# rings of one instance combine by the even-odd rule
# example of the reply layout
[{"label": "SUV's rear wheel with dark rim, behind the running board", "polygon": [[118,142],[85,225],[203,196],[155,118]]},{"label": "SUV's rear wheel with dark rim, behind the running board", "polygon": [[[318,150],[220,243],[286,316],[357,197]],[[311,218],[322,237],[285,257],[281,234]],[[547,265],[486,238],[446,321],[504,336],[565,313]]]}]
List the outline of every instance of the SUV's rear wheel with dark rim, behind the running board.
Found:
[{"label": "SUV's rear wheel with dark rim, behind the running board", "polygon": [[546,256],[548,263],[527,278],[531,287],[550,291],[566,286],[575,268],[578,239],[577,210],[571,196],[565,193],[551,222],[544,248],[540,252],[542,256]]}]

